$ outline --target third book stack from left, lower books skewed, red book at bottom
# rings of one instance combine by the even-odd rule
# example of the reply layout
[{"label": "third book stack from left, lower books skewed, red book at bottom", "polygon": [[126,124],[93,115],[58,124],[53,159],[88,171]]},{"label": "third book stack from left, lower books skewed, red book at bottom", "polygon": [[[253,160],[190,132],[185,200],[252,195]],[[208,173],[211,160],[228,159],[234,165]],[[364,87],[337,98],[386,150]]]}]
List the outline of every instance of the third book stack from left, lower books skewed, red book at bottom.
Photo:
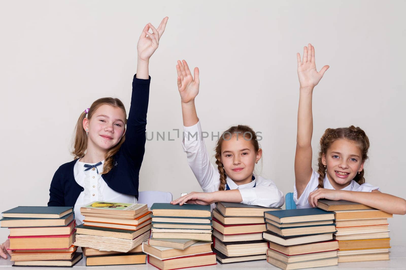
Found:
[{"label": "third book stack from left, lower books skewed, red book at bottom", "polygon": [[162,269],[216,264],[209,205],[154,203],[151,239],[143,243],[148,262]]}]

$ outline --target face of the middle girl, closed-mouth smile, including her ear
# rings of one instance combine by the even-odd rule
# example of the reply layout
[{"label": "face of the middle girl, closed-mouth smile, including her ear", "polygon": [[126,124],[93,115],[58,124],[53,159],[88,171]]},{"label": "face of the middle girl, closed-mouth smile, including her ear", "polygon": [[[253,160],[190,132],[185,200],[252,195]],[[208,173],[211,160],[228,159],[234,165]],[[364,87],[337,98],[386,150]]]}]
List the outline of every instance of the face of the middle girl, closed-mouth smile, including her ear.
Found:
[{"label": "face of the middle girl, closed-mouth smile, including her ear", "polygon": [[224,170],[237,185],[251,182],[255,161],[261,159],[261,155],[262,150],[255,152],[251,141],[242,135],[233,134],[221,145],[220,157]]}]

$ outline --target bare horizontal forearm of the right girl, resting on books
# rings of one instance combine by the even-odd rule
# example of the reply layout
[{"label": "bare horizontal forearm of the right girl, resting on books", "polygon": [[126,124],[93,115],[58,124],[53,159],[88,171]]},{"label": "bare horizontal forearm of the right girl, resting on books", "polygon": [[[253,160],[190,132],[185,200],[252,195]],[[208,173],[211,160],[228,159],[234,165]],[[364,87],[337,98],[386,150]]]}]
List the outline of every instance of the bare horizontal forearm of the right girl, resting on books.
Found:
[{"label": "bare horizontal forearm of the right girl, resting on books", "polygon": [[341,200],[358,202],[390,214],[405,215],[406,200],[381,192],[341,190]]}]

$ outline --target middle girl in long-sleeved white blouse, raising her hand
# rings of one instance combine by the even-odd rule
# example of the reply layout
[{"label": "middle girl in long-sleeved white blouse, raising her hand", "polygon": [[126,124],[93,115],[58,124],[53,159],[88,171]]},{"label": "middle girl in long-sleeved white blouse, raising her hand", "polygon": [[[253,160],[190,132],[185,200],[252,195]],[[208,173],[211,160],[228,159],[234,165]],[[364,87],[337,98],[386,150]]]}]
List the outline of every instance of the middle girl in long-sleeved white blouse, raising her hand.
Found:
[{"label": "middle girl in long-sleeved white blouse, raising her hand", "polygon": [[216,202],[282,206],[285,199],[275,183],[253,174],[262,149],[250,127],[238,125],[225,131],[216,146],[217,169],[210,163],[194,106],[199,93],[199,69],[194,69],[194,79],[186,61],[178,61],[176,69],[185,132],[183,148],[204,192],[192,192],[171,203],[212,204],[212,208]]}]

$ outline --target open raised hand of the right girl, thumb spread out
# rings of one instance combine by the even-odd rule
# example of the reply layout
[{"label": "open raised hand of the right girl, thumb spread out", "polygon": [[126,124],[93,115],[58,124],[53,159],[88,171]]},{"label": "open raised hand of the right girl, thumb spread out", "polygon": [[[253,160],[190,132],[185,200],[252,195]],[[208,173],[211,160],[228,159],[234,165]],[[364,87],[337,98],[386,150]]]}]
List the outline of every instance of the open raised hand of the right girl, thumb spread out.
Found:
[{"label": "open raised hand of the right girl, thumb spread out", "polygon": [[313,89],[313,87],[319,83],[320,79],[322,79],[324,72],[326,72],[329,66],[324,66],[319,72],[317,72],[314,58],[314,47],[310,43],[303,49],[303,60],[300,60],[300,53],[297,53],[297,57],[300,88]]}]

